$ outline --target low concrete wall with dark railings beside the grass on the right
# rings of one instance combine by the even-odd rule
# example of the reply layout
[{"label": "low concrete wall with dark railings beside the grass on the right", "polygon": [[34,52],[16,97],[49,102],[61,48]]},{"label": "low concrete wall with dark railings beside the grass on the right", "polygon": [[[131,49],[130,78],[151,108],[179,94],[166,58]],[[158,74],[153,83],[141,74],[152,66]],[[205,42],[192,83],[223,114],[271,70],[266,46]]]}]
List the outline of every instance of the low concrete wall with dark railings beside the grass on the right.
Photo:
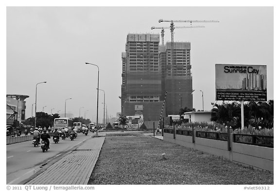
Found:
[{"label": "low concrete wall with dark railings beside the grass on the right", "polygon": [[194,136],[194,143],[192,143],[191,136],[175,134],[174,139],[173,134],[165,132],[163,134],[163,140],[212,155],[222,156],[232,162],[239,163],[244,166],[274,172],[273,148],[235,143],[233,142],[232,134],[230,136],[230,151],[227,149],[227,141],[222,140],[204,139]]}]

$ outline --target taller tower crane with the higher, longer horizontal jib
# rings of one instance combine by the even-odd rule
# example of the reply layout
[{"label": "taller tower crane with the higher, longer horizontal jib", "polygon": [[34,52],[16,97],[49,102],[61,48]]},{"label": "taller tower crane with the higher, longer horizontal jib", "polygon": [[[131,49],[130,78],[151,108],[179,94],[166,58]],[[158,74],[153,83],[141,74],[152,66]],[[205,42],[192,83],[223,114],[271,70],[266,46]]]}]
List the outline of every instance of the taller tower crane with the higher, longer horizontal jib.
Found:
[{"label": "taller tower crane with the higher, longer horizontal jib", "polygon": [[[159,19],[158,22],[170,22],[170,31],[171,31],[171,80],[172,80],[172,93],[171,93],[171,99],[172,103],[174,103],[174,80],[173,80],[173,57],[174,57],[174,29],[175,25],[174,22],[190,22],[191,26],[190,27],[176,27],[176,28],[194,28],[195,26],[192,26],[193,22],[219,22],[217,20],[163,20]],[[201,26],[198,26],[201,27]],[[172,104],[172,112],[174,112],[174,104]]]}]

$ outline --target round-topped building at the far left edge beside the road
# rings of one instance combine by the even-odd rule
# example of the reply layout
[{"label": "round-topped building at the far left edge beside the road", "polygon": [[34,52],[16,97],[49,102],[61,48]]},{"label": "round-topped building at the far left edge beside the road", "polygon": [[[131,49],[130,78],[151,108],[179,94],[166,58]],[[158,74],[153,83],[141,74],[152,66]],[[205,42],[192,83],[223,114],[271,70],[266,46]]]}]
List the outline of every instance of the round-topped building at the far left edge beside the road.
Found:
[{"label": "round-topped building at the far left edge beside the road", "polygon": [[[24,122],[25,121],[25,109],[26,98],[29,98],[28,95],[18,95],[18,94],[6,94],[6,119],[7,124],[13,124],[13,122]],[[15,113],[17,112],[17,114]],[[15,114],[14,117],[12,117]],[[11,117],[11,119],[9,119]]]}]

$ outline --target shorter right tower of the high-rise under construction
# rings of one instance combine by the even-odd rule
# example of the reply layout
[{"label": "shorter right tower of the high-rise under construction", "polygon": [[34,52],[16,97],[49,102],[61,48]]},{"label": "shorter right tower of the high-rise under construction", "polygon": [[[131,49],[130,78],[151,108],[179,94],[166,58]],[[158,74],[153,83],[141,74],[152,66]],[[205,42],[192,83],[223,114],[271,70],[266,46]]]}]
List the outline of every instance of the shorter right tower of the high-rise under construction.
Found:
[{"label": "shorter right tower of the high-rise under construction", "polygon": [[[171,63],[171,42],[159,49],[162,70],[162,96],[166,95],[166,115],[178,114],[180,108],[192,109],[191,43],[174,42]],[[172,67],[171,67],[172,64]]]}]

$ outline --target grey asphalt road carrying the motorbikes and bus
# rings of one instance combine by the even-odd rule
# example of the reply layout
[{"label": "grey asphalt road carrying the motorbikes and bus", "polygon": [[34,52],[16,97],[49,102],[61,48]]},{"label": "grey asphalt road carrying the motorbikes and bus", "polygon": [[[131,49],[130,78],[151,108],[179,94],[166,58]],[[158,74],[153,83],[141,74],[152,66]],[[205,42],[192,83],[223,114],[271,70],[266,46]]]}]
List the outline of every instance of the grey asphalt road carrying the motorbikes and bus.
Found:
[{"label": "grey asphalt road carrying the motorbikes and bus", "polygon": [[10,144],[6,146],[6,183],[18,184],[21,181],[27,179],[33,174],[42,169],[42,166],[51,161],[55,161],[62,157],[64,154],[70,152],[74,147],[78,146],[82,142],[93,135],[89,131],[85,136],[82,133],[78,133],[77,139],[73,141],[70,138],[62,140],[60,138],[59,143],[53,142],[53,137],[50,139],[50,149],[42,152],[41,147],[34,147],[32,140]]}]

